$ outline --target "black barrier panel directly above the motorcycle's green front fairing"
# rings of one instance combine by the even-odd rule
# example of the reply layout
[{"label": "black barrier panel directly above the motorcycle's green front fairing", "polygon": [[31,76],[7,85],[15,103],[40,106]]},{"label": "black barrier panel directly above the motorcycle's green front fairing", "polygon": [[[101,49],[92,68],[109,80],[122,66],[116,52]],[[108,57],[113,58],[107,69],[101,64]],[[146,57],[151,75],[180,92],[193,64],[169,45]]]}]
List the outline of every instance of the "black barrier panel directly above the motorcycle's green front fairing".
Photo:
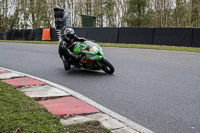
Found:
[{"label": "black barrier panel directly above the motorcycle's green front fairing", "polygon": [[117,43],[119,28],[87,28],[87,38],[97,42]]}]

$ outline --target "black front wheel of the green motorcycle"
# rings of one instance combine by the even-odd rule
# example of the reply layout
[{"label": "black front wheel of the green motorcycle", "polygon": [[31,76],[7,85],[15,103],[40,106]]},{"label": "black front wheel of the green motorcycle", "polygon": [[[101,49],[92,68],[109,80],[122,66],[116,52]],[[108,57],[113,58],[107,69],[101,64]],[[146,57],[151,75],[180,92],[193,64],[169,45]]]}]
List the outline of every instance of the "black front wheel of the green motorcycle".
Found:
[{"label": "black front wheel of the green motorcycle", "polygon": [[102,70],[104,72],[112,74],[115,71],[113,65],[106,59],[102,59],[101,63],[102,63]]}]

